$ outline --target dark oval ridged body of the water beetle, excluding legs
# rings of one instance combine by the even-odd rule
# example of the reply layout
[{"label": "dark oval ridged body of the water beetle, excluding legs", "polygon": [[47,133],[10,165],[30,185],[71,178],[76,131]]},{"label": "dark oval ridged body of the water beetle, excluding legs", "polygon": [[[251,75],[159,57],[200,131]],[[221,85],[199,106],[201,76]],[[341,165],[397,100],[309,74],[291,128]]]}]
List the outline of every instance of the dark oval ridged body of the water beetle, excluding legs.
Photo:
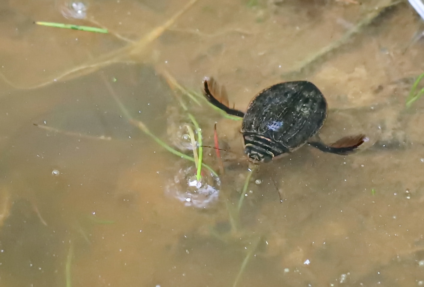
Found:
[{"label": "dark oval ridged body of the water beetle, excluding legs", "polygon": [[[322,127],[326,113],[326,100],[314,84],[296,81],[273,85],[260,92],[247,109],[242,124],[245,144],[263,143],[265,138],[272,157],[290,152]],[[252,142],[252,134],[262,140]]]}]

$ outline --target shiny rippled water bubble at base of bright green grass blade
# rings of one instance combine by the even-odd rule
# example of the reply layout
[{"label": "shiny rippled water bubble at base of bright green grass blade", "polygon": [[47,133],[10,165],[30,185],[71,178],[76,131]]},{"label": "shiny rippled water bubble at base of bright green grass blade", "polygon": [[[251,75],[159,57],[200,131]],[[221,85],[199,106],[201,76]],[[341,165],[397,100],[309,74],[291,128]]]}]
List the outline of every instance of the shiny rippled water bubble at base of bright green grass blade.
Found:
[{"label": "shiny rippled water bubble at base of bright green grass blade", "polygon": [[165,192],[183,202],[185,206],[207,208],[218,201],[220,179],[204,169],[206,175],[198,181],[195,173],[194,166],[181,168],[165,186]]}]

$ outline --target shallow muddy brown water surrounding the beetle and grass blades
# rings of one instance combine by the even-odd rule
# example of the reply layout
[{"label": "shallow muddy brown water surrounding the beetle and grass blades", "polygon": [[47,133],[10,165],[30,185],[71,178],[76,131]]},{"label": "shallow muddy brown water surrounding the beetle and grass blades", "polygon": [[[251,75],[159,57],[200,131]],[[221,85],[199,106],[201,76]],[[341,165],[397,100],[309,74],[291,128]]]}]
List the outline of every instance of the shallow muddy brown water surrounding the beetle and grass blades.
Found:
[{"label": "shallow muddy brown water surrounding the beetle and grass blades", "polygon": [[[62,16],[67,1],[0,3],[0,285],[424,286],[424,101],[404,105],[424,69],[413,9],[192,2],[150,38],[188,1],[85,1],[85,20]],[[241,122],[181,96],[184,111],[165,72],[197,92],[214,76],[241,110],[271,84],[306,79],[329,103],[324,141],[369,140],[349,156],[305,146],[262,165],[237,212]],[[226,150],[225,173],[203,169],[201,191],[191,162],[126,117],[191,156],[187,112],[204,145],[216,122]],[[213,149],[204,162],[219,170]]]}]

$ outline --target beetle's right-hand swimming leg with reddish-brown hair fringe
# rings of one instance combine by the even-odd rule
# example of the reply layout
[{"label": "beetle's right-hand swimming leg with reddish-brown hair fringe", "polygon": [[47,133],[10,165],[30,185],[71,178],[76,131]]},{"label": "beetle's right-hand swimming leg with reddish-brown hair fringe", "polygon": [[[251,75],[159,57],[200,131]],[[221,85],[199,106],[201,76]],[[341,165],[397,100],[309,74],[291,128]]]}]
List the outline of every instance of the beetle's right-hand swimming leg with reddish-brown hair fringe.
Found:
[{"label": "beetle's right-hand swimming leg with reddish-brown hair fringe", "polygon": [[318,148],[321,151],[326,153],[335,153],[340,155],[347,155],[354,152],[360,145],[362,145],[366,140],[364,134],[359,134],[357,136],[343,137],[337,142],[334,142],[330,145],[326,145],[321,141],[316,142],[307,142],[308,145],[312,145],[315,148]]}]

